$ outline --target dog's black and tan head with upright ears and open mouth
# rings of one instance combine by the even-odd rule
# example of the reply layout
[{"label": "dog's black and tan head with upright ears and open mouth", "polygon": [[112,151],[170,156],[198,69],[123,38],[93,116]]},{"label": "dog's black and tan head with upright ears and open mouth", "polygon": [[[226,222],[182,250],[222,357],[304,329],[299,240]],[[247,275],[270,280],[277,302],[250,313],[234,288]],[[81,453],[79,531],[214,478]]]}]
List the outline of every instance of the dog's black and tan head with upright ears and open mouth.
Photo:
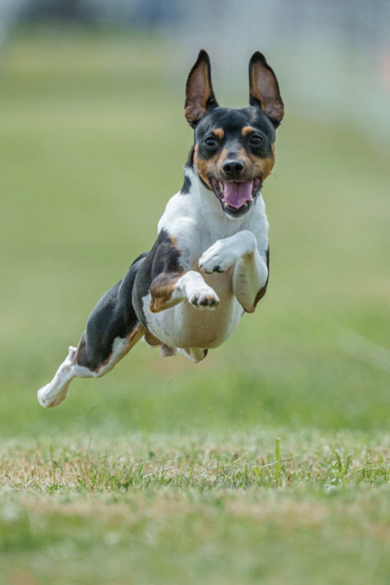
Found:
[{"label": "dog's black and tan head with upright ears and open mouth", "polygon": [[247,108],[220,108],[210,60],[201,50],[187,80],[184,115],[195,131],[193,163],[232,218],[245,214],[275,162],[275,129],[284,106],[274,71],[258,51],[249,62]]}]

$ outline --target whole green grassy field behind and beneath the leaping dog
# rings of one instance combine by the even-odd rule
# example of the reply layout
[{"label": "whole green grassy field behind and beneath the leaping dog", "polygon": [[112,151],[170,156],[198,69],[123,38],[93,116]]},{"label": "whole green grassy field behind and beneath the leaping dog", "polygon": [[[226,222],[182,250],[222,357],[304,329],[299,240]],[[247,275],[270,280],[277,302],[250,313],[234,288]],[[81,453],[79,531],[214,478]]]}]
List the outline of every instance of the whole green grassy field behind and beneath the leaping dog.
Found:
[{"label": "whole green grassy field behind and beneath the leaping dog", "polygon": [[358,128],[287,108],[269,291],[223,347],[139,343],[37,403],[181,186],[170,51],[40,31],[2,54],[2,583],[388,583],[390,150]]}]

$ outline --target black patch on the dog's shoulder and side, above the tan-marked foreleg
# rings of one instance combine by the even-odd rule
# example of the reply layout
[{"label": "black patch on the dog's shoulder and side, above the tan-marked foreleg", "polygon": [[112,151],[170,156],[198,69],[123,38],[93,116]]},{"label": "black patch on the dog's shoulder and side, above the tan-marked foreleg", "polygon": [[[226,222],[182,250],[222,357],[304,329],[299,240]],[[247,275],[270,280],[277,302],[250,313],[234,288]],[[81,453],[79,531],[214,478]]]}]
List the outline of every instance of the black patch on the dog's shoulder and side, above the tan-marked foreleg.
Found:
[{"label": "black patch on the dog's shoulder and side, above the tan-marked foreleg", "polygon": [[147,327],[146,316],[143,312],[142,298],[150,291],[154,278],[166,275],[171,278],[174,274],[181,274],[184,270],[180,265],[180,250],[162,229],[153,248],[137,271],[133,289],[133,305],[139,321]]}]

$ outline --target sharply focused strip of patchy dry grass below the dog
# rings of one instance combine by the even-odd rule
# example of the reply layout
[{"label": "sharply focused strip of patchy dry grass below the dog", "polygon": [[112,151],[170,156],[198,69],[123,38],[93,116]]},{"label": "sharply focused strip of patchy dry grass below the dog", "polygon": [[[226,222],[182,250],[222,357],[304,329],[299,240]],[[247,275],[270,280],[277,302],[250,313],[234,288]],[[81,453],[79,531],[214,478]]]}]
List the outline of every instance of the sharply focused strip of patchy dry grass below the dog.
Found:
[{"label": "sharply focused strip of patchy dry grass below the dog", "polygon": [[[312,438],[313,439],[313,438]],[[134,435],[126,445],[50,444],[0,451],[0,481],[12,490],[36,493],[172,490],[235,490],[259,487],[317,487],[386,484],[390,480],[388,438],[370,449],[343,436],[334,445],[317,436],[314,452],[305,437],[280,439],[240,435],[229,442],[201,437],[175,442],[169,436]],[[344,445],[343,445],[344,443]]]}]

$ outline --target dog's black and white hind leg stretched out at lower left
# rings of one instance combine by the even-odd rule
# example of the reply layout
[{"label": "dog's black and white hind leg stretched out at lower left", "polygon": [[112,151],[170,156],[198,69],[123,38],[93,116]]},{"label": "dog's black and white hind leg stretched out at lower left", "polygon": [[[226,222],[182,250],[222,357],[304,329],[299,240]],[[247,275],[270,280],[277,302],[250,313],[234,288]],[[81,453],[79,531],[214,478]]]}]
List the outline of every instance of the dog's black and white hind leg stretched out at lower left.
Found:
[{"label": "dog's black and white hind leg stretched out at lower left", "polygon": [[43,407],[57,406],[65,400],[76,376],[104,376],[146,333],[132,304],[134,278],[143,258],[144,255],[134,261],[125,278],[103,295],[89,315],[80,343],[69,348],[53,380],[39,390],[38,400]]}]

